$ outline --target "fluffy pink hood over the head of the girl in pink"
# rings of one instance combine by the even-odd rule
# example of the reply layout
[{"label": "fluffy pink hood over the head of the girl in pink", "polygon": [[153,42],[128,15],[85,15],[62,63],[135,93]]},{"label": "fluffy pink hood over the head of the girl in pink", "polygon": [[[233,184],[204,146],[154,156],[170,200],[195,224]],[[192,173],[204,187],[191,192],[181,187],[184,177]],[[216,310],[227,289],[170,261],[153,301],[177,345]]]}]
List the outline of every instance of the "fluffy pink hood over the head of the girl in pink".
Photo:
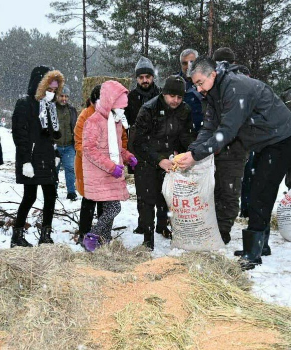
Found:
[{"label": "fluffy pink hood over the head of the girl in pink", "polygon": [[100,99],[96,102],[95,110],[108,118],[114,102],[128,90],[115,80],[107,80],[101,85]]}]

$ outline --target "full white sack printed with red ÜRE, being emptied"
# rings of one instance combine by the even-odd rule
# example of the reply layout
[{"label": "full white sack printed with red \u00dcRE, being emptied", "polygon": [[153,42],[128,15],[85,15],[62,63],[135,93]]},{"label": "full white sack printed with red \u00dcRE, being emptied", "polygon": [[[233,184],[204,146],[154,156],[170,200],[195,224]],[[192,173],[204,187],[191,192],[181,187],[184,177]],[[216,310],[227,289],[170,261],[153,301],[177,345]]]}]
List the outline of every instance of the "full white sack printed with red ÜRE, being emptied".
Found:
[{"label": "full white sack printed with red \u00dcRE, being emptied", "polygon": [[166,174],[162,192],[172,214],[172,248],[212,251],[224,246],[214,206],[213,155],[189,170]]}]

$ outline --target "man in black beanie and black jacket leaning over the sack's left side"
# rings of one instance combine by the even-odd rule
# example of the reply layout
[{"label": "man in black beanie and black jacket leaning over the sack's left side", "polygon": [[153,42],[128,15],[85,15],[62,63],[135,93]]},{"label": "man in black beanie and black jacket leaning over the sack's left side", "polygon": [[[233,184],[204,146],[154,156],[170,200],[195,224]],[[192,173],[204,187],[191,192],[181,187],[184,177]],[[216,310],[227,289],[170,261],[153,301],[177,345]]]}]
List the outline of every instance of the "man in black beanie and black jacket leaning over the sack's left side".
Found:
[{"label": "man in black beanie and black jacket leaning over the sack's left side", "polygon": [[135,168],[135,186],[144,244],[150,249],[154,248],[155,205],[164,213],[166,226],[168,208],[162,184],[165,172],[173,165],[169,156],[180,145],[187,149],[194,139],[191,109],[183,102],[184,94],[184,79],[170,76],[163,92],[145,103],[136,118],[133,145],[139,162]]}]

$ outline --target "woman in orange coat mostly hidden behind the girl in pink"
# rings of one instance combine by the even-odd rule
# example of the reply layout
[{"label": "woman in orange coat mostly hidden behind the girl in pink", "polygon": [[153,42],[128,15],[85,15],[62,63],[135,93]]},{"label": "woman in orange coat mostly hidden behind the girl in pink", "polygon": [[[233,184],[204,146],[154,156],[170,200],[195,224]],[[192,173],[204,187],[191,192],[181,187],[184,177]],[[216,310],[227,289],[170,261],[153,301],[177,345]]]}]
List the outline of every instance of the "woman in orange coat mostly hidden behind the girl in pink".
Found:
[{"label": "woman in orange coat mostly hidden behind the girl in pink", "polygon": [[[74,133],[75,133],[75,173],[76,173],[76,189],[82,198],[80,219],[79,219],[79,239],[78,242],[83,245],[84,235],[91,230],[94,211],[97,203],[97,217],[102,214],[102,202],[95,202],[91,199],[85,198],[84,194],[84,178],[82,166],[82,134],[86,120],[95,113],[95,103],[100,97],[101,85],[96,85],[90,95],[90,105],[85,108],[79,115]],[[122,130],[122,148],[127,149],[127,135],[123,128]]]}]

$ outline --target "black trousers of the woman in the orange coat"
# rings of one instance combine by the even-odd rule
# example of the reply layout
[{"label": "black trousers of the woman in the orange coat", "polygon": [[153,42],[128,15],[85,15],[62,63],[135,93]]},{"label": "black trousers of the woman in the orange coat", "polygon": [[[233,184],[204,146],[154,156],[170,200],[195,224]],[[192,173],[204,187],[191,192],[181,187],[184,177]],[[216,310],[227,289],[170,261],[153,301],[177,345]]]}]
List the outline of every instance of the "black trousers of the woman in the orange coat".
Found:
[{"label": "black trousers of the woman in the orange coat", "polygon": [[96,204],[97,217],[99,219],[103,213],[103,202],[95,202],[94,200],[87,199],[85,197],[82,198],[79,219],[79,232],[83,235],[91,231]]}]

